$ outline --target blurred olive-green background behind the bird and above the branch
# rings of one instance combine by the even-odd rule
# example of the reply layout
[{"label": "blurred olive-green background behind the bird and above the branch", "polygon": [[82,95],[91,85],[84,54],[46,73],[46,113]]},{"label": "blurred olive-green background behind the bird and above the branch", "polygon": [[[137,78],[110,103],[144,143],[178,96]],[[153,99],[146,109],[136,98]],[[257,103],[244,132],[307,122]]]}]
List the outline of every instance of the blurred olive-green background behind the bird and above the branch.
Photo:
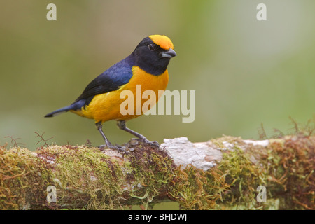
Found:
[{"label": "blurred olive-green background behind the bird and above the branch", "polygon": [[[48,3],[57,21],[46,20]],[[258,3],[267,21],[256,20]],[[49,144],[103,144],[93,120],[65,113],[100,73],[127,57],[151,34],[169,36],[177,57],[168,90],[196,91],[196,118],[142,116],[127,125],[148,139],[225,135],[258,139],[289,116],[307,123],[315,113],[315,1],[39,1],[0,0],[0,144],[11,136],[36,149],[34,132]],[[104,125],[116,144],[132,136]]]}]

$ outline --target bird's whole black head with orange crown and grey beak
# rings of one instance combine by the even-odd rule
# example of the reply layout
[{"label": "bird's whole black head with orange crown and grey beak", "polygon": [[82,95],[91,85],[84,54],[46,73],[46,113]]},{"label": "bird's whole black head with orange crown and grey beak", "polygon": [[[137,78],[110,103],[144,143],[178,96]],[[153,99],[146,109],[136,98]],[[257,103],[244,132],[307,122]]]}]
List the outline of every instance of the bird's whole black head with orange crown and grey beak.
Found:
[{"label": "bird's whole black head with orange crown and grey beak", "polygon": [[170,38],[162,35],[151,35],[144,38],[133,52],[137,66],[153,75],[165,72],[169,60],[176,56]]}]

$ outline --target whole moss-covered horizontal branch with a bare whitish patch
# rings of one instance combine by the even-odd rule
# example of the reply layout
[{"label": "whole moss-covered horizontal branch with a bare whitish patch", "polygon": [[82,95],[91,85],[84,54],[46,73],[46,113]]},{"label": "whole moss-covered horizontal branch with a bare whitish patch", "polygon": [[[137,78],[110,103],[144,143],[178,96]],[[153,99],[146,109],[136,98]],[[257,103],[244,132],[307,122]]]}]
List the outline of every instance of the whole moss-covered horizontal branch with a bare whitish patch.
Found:
[{"label": "whole moss-covered horizontal branch with a bare whitish patch", "polygon": [[[90,146],[0,148],[0,209],[314,209],[315,137],[203,143],[132,140],[123,156]],[[48,186],[55,188],[53,198]],[[267,202],[258,202],[265,186]]]}]

